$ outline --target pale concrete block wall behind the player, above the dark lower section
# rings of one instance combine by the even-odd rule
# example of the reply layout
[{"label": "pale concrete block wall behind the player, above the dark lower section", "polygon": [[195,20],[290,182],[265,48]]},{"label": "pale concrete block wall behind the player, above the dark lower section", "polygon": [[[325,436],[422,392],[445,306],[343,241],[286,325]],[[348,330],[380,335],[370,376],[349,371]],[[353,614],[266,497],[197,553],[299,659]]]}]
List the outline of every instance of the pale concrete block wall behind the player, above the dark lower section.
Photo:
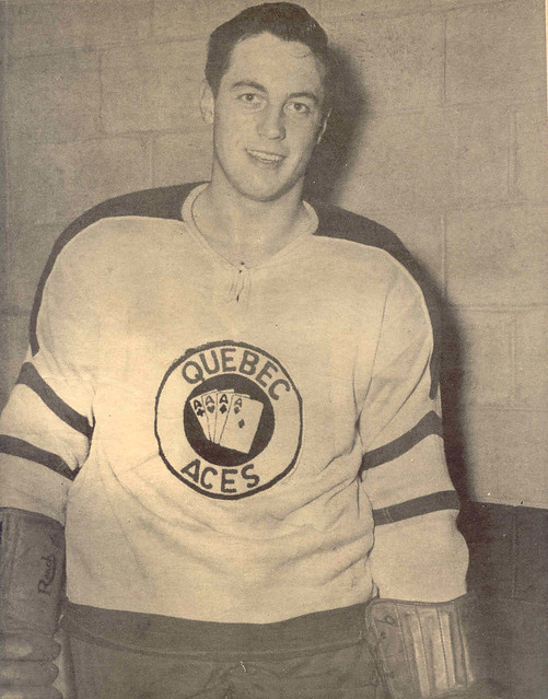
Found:
[{"label": "pale concrete block wall behind the player, above the dark lower section", "polygon": [[[85,208],[207,178],[206,38],[245,0],[11,0],[3,25],[5,399],[53,242]],[[481,501],[546,508],[541,0],[306,0],[363,85],[335,201],[400,235],[453,331],[453,452]],[[345,105],[341,105],[343,107]],[[450,416],[451,417],[451,416]],[[456,446],[455,446],[456,445]],[[450,457],[452,454],[450,454]]]}]

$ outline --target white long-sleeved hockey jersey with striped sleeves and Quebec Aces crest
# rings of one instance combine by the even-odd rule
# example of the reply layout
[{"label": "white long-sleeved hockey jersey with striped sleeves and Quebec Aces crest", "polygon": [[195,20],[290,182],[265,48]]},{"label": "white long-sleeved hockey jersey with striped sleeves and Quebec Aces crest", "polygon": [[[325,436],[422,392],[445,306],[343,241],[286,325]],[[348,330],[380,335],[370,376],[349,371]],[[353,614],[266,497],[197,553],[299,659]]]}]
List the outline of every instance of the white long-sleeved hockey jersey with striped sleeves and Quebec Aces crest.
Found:
[{"label": "white long-sleeved hockey jersey with striped sleeves and Quebec Aces crest", "polygon": [[258,624],[463,594],[416,281],[310,206],[290,245],[232,265],[193,223],[198,191],[60,240],[1,418],[0,505],[66,523],[80,605]]}]

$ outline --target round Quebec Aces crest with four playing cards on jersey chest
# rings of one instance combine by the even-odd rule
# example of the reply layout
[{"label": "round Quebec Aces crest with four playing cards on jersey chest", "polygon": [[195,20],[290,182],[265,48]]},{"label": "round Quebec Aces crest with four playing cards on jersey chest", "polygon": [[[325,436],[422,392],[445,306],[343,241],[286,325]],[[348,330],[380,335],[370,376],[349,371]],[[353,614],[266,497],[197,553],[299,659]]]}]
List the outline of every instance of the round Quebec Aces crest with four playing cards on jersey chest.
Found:
[{"label": "round Quebec Aces crest with four playing cards on jersey chest", "polygon": [[302,400],[264,350],[209,342],[168,369],[154,427],[172,474],[209,498],[237,500],[270,488],[295,465]]}]

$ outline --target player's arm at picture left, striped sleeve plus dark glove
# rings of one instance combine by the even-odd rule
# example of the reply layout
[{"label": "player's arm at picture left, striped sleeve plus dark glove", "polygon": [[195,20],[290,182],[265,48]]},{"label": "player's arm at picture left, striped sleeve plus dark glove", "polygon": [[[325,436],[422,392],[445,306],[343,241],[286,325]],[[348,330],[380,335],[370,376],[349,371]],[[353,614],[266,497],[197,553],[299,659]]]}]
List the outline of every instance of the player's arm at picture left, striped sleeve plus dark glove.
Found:
[{"label": "player's arm at picture left, striped sleeve plus dark glove", "polygon": [[0,699],[59,696],[65,508],[93,431],[96,321],[80,264],[68,249],[54,266],[0,417]]}]

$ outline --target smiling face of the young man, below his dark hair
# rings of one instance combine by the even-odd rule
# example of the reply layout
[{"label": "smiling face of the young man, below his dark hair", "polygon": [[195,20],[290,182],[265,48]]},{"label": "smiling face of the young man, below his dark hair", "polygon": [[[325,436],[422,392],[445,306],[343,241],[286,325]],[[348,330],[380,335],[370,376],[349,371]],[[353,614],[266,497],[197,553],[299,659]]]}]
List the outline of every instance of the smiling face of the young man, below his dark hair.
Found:
[{"label": "smiling face of the young man, below his dark hair", "polygon": [[307,46],[259,34],[236,44],[202,110],[213,121],[213,182],[272,201],[302,186],[325,127],[323,68]]}]

